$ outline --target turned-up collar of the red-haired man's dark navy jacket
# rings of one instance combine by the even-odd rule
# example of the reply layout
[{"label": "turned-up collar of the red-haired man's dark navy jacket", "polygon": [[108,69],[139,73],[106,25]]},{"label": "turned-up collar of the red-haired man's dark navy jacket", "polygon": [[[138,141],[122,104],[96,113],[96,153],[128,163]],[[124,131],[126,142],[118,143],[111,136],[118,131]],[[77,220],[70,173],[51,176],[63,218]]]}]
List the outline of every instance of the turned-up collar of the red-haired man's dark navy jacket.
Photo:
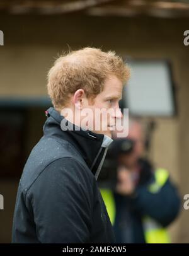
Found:
[{"label": "turned-up collar of the red-haired man's dark navy jacket", "polygon": [[[89,130],[79,129],[79,131],[77,131],[78,129],[76,129],[76,125],[71,124],[52,107],[47,110],[46,115],[48,119],[43,126],[44,135],[59,137],[60,139],[64,139],[71,143],[79,154],[81,154],[81,157],[97,179],[103,161],[105,160],[108,146],[113,140],[108,136],[96,134]],[[69,131],[68,129],[67,131],[63,131],[61,129],[60,123],[63,119],[67,124],[73,126],[73,131]]]}]

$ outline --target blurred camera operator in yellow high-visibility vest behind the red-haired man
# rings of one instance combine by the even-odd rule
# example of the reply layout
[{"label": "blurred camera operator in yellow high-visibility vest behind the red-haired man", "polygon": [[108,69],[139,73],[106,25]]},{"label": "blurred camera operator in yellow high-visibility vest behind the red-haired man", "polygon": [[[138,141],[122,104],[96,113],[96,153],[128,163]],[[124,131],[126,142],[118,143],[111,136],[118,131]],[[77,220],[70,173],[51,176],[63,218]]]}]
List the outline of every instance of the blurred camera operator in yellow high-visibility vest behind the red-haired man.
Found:
[{"label": "blurred camera operator in yellow high-visibility vest behind the red-haired man", "polygon": [[127,139],[116,139],[116,132],[114,136],[110,158],[117,160],[117,182],[114,190],[101,187],[101,194],[117,242],[169,243],[166,227],[178,215],[180,197],[168,171],[144,158],[139,120],[129,122]]}]

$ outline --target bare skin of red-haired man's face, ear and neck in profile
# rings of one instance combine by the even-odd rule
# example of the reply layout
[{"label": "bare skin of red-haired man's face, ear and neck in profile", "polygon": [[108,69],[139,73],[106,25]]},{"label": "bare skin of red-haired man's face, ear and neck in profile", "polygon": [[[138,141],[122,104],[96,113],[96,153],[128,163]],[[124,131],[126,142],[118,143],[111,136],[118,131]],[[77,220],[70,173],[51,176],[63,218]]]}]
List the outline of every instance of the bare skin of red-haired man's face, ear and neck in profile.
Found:
[{"label": "bare skin of red-haired man's face, ear and neck in profile", "polygon": [[103,91],[95,99],[87,98],[84,90],[79,89],[71,97],[71,105],[62,108],[60,113],[77,127],[112,137],[115,125],[123,117],[118,105],[122,98],[122,88],[122,81],[110,75]]}]

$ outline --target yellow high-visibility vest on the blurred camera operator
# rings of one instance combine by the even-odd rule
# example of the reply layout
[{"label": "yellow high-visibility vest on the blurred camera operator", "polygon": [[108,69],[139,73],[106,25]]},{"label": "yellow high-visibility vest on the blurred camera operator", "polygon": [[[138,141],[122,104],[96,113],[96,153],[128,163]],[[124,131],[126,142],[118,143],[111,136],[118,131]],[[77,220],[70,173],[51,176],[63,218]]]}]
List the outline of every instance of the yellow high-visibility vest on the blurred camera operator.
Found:
[{"label": "yellow high-visibility vest on the blurred camera operator", "polygon": [[[154,172],[154,177],[154,183],[149,185],[148,189],[151,193],[156,194],[161,189],[161,187],[163,187],[164,183],[166,183],[166,181],[168,180],[169,173],[163,168],[158,168],[156,172]],[[100,189],[100,192],[105,202],[106,209],[113,226],[115,223],[116,214],[116,206],[113,192],[110,189]],[[144,237],[146,243],[171,242],[166,228],[163,228],[161,224],[157,223],[154,219],[150,218],[149,216],[144,216],[144,218],[142,218],[142,225],[144,228]]]}]

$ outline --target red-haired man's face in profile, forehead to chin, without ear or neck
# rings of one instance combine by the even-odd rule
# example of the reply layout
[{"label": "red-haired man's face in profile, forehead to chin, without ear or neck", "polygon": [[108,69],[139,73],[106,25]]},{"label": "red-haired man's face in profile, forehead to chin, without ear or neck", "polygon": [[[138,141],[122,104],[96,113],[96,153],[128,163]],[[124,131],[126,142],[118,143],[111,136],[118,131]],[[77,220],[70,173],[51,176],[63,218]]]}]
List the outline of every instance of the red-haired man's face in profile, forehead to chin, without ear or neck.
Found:
[{"label": "red-haired man's face in profile, forehead to chin, without ear or neck", "polygon": [[117,119],[123,117],[118,105],[122,88],[122,81],[116,76],[111,75],[106,79],[103,91],[96,96],[93,105],[87,106],[93,111],[93,116],[89,116],[89,122],[93,124],[91,131],[112,137]]}]

